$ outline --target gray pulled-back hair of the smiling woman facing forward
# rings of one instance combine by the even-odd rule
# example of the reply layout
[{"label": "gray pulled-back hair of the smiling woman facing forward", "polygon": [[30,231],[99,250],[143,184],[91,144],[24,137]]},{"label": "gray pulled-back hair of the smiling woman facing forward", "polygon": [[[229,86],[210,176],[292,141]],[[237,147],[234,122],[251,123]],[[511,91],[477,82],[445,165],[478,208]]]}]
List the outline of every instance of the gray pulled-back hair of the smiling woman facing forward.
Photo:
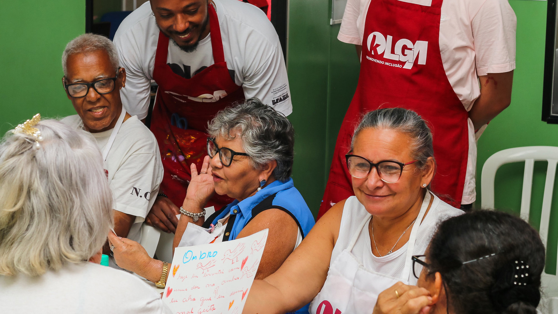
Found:
[{"label": "gray pulled-back hair of the smiling woman facing forward", "polygon": [[403,132],[411,137],[412,158],[417,161],[417,167],[422,168],[428,158],[434,158],[432,146],[432,132],[416,112],[403,108],[381,108],[366,113],[354,130],[350,150],[360,131],[365,129],[391,129]]}]

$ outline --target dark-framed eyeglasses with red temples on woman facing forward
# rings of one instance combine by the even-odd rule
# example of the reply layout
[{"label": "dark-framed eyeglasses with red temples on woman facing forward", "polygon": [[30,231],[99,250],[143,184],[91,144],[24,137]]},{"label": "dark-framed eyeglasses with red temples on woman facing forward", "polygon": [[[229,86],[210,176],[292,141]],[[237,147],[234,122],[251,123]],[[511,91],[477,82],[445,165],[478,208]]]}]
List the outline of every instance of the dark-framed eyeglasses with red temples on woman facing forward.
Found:
[{"label": "dark-framed eyeglasses with red temples on woman facing forward", "polygon": [[347,168],[349,168],[349,173],[355,178],[362,179],[368,177],[370,170],[376,168],[376,172],[380,179],[386,183],[396,183],[401,174],[403,173],[403,167],[416,163],[418,160],[413,160],[410,163],[400,163],[394,160],[383,160],[377,164],[373,164],[370,160],[358,156],[358,155],[345,155],[347,161]]}]

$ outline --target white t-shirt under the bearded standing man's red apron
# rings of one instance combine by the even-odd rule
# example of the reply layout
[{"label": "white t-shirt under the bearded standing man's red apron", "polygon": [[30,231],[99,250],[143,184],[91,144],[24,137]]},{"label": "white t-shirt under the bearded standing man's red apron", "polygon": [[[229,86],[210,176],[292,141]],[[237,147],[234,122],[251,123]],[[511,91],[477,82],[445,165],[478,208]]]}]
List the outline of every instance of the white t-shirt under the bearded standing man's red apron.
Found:
[{"label": "white t-shirt under the bearded standing man's red apron", "polygon": [[[257,97],[289,115],[292,104],[285,60],[279,37],[265,13],[238,0],[213,2],[217,7],[225,61],[229,72],[234,71],[234,82],[242,85],[246,98]],[[124,19],[114,35],[120,65],[126,69],[126,87],[120,91],[122,102],[126,111],[140,119],[147,116],[159,36],[151,13],[150,2],[142,4]],[[200,40],[193,53],[185,53],[169,41],[168,63],[175,64],[174,71],[187,78],[214,64],[211,35]]]}]

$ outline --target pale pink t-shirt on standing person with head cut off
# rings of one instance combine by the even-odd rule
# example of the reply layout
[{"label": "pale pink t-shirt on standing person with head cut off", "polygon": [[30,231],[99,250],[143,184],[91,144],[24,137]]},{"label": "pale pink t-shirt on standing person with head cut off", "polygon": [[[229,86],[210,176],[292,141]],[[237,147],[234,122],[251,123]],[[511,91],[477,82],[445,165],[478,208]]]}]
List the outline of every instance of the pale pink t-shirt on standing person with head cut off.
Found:
[{"label": "pale pink t-shirt on standing person with head cut off", "polygon": [[[362,45],[370,2],[347,1],[337,36],[340,41]],[[442,2],[439,39],[442,63],[451,87],[467,111],[480,95],[477,75],[516,68],[516,24],[516,15],[507,0]],[[468,159],[463,204],[473,203],[476,198],[477,145],[470,120]]]}]

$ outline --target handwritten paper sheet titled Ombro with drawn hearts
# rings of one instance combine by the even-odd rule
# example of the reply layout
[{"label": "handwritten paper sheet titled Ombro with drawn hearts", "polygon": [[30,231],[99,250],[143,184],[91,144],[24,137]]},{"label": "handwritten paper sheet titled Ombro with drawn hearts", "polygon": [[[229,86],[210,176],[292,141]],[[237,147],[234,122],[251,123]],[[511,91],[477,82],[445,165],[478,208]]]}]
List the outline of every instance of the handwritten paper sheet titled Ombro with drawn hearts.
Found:
[{"label": "handwritten paper sheet titled Ombro with drawn hearts", "polygon": [[267,229],[232,241],[178,247],[163,302],[176,314],[240,314],[262,259]]}]

